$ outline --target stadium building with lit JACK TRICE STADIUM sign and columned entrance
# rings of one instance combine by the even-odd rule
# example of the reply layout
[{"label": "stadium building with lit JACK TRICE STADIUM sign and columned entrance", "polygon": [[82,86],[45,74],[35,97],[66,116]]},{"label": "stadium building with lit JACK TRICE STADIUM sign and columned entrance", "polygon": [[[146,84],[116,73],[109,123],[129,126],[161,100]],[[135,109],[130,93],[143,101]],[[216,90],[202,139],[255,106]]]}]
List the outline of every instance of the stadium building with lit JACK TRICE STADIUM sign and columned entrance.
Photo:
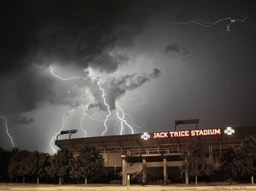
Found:
[{"label": "stadium building with lit JACK TRICE STADIUM sign and columned entrance", "polygon": [[204,142],[208,148],[209,162],[218,165],[223,153],[230,148],[238,148],[247,136],[255,137],[256,127],[74,138],[56,140],[55,145],[61,149],[67,148],[75,155],[86,146],[98,148],[104,158],[106,177],[110,182],[126,185],[127,177],[131,177],[131,180],[143,184],[166,184],[177,179],[188,179],[188,175],[184,175],[181,170],[183,151],[189,142]]}]

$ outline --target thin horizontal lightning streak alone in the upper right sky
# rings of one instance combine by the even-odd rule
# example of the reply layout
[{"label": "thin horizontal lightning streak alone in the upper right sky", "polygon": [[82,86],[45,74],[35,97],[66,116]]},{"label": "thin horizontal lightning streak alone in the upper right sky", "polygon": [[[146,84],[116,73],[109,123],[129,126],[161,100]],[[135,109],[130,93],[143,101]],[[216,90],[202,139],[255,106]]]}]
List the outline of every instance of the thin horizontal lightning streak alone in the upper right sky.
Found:
[{"label": "thin horizontal lightning streak alone in the upper right sky", "polygon": [[230,32],[230,26],[232,24],[234,24],[235,22],[245,22],[246,21],[246,17],[244,19],[232,19],[231,17],[226,17],[220,20],[216,20],[215,22],[207,22],[204,20],[190,20],[188,22],[170,22],[170,21],[164,21],[164,23],[166,24],[174,24],[174,25],[189,25],[189,24],[195,24],[195,25],[199,25],[199,26],[203,26],[203,27],[211,27],[211,26],[216,26],[218,23],[222,22],[222,21],[228,21],[228,24],[226,25],[226,31],[224,32]]}]

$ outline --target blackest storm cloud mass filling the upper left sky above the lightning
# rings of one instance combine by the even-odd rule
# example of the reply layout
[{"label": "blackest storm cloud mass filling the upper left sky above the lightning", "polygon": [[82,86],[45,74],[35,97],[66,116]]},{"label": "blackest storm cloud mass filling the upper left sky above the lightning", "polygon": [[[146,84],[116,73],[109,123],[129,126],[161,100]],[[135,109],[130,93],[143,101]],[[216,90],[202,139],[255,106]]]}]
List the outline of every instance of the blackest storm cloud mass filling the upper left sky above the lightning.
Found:
[{"label": "blackest storm cloud mass filling the upper left sky above the lightning", "polygon": [[147,7],[127,0],[5,1],[1,6],[1,72],[32,62],[87,67],[90,61],[90,67],[113,72],[121,63],[115,60],[104,67],[103,60],[114,60],[109,54],[113,47],[132,41],[142,31]]}]

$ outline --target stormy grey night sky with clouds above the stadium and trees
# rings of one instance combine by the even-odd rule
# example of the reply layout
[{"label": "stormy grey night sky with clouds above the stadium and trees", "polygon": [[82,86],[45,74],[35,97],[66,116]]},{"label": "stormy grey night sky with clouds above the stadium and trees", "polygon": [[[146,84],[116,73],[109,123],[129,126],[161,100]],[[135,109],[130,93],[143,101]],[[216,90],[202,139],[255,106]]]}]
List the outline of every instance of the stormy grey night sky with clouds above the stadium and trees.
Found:
[{"label": "stormy grey night sky with clouds above the stadium and trees", "polygon": [[48,153],[61,127],[84,137],[174,130],[177,119],[256,126],[255,20],[244,0],[1,1],[0,115],[15,147]]}]

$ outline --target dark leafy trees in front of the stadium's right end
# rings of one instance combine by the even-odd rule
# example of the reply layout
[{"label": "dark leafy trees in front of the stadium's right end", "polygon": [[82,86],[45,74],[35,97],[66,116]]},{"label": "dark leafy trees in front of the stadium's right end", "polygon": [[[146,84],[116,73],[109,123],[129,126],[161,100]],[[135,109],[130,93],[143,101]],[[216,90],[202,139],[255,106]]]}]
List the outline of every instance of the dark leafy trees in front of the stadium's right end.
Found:
[{"label": "dark leafy trees in front of the stadium's right end", "polygon": [[241,142],[241,147],[230,148],[220,159],[218,166],[212,165],[209,160],[207,147],[202,142],[192,142],[188,149],[184,151],[183,171],[189,177],[210,177],[216,171],[220,171],[224,177],[230,179],[230,184],[234,179],[250,178],[252,184],[256,175],[256,139],[249,136]]}]

